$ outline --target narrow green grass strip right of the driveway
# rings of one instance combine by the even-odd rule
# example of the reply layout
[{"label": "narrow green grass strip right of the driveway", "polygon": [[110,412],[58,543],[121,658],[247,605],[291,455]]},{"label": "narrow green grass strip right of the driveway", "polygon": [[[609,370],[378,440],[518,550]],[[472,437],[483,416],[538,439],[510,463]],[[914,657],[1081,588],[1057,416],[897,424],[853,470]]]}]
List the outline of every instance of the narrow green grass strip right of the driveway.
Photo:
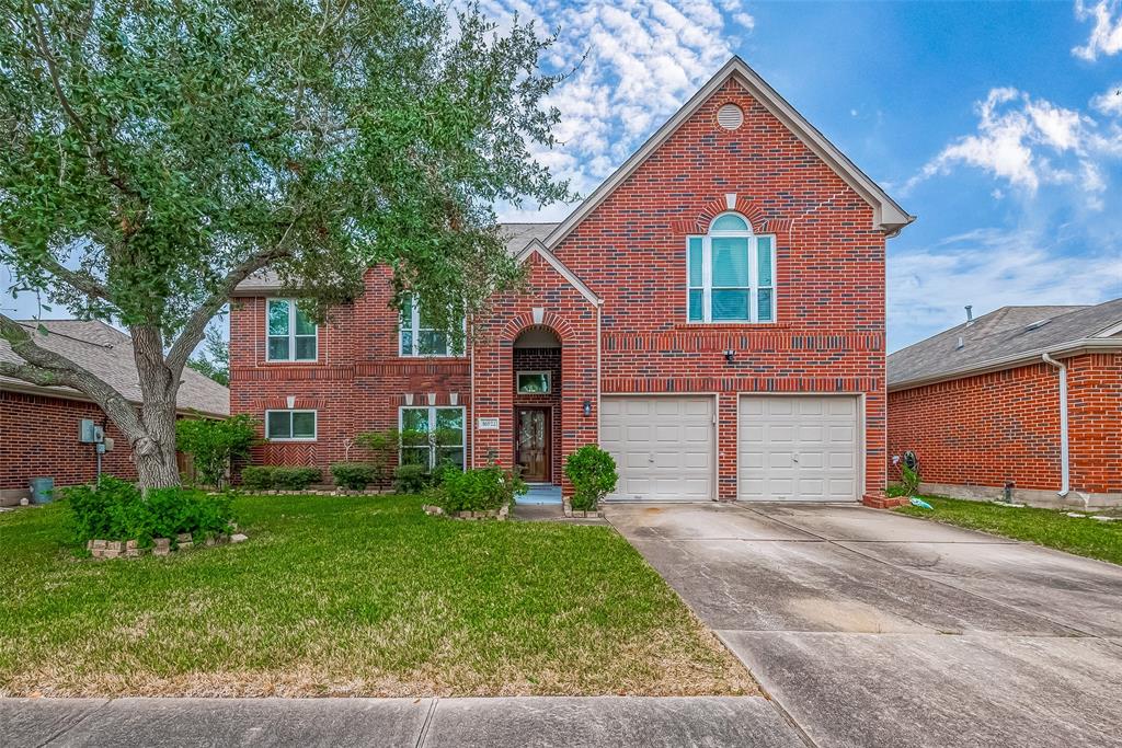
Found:
[{"label": "narrow green grass strip right of the driveway", "polygon": [[[1122,517],[1118,521],[1098,521],[1088,517],[1068,517],[1068,509],[1014,509],[985,501],[938,496],[922,498],[935,507],[934,511],[912,506],[900,507],[895,511],[1122,564]],[[1116,511],[1113,514],[1119,515]]]}]

